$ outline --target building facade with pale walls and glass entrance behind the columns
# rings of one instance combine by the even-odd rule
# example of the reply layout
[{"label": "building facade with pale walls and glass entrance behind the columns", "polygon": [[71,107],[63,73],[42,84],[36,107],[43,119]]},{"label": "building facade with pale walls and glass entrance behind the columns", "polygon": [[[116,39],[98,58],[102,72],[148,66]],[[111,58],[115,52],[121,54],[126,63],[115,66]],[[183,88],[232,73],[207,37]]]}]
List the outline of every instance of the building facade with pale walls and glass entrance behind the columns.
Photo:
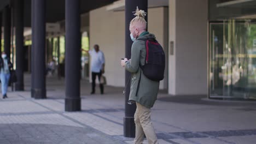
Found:
[{"label": "building facade with pale walls and glass entrance behind the columns", "polygon": [[[3,1],[0,5],[5,9],[2,11],[4,27],[8,24],[6,9],[12,8],[10,6],[14,2]],[[28,71],[33,61],[30,46],[33,41],[30,25],[33,15],[28,9],[32,8],[31,2],[24,0],[25,70]],[[45,63],[54,59],[61,76],[65,76],[66,59],[63,3],[65,1],[61,0],[48,2],[45,7],[44,59]],[[53,4],[60,8],[58,13],[51,10]],[[100,45],[106,57],[108,85],[124,87],[125,71],[119,63],[125,56],[125,1],[95,2],[90,7],[86,4],[80,2],[80,47],[89,50],[95,44]],[[256,98],[255,6],[255,0],[148,0],[148,31],[156,35],[166,53],[165,79],[161,81],[160,89],[177,96]],[[15,29],[13,31],[15,35]],[[9,37],[8,33],[3,35]],[[7,47],[8,44],[3,43],[2,50]],[[14,46],[10,53],[13,61],[17,57],[15,52]],[[84,52],[80,55],[82,78],[90,80],[90,58]]]}]

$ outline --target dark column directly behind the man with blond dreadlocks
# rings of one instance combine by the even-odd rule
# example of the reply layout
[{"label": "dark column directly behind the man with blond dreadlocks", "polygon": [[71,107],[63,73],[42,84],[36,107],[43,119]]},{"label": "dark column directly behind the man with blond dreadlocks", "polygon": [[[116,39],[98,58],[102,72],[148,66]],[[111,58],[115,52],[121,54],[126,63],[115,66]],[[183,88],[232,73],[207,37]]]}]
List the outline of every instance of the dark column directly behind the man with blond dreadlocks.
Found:
[{"label": "dark column directly behind the man with blond dreadlocks", "polygon": [[[131,46],[132,40],[130,38],[130,22],[135,17],[132,11],[136,8],[148,11],[148,0],[125,0],[125,57],[127,59],[131,58]],[[146,19],[147,20],[147,19]],[[128,83],[125,93],[125,117],[124,117],[124,136],[125,137],[135,137],[135,123],[134,123],[134,113],[136,111],[136,104],[129,105],[127,101],[129,100],[130,94],[130,73],[125,71],[125,84]]]}]

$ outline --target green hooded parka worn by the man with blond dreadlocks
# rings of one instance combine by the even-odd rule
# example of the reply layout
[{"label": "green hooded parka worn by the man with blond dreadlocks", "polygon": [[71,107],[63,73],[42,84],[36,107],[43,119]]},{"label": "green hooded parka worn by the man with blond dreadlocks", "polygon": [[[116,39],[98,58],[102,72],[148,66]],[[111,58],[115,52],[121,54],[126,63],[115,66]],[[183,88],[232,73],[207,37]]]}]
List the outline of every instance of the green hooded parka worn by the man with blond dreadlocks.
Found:
[{"label": "green hooded parka worn by the man with blond dreadlocks", "polygon": [[139,65],[145,64],[146,42],[145,39],[154,38],[154,34],[143,32],[131,48],[131,59],[126,62],[125,69],[131,73],[131,91],[129,101],[137,103],[148,108],[153,107],[159,91],[159,82],[149,80],[142,72]]}]

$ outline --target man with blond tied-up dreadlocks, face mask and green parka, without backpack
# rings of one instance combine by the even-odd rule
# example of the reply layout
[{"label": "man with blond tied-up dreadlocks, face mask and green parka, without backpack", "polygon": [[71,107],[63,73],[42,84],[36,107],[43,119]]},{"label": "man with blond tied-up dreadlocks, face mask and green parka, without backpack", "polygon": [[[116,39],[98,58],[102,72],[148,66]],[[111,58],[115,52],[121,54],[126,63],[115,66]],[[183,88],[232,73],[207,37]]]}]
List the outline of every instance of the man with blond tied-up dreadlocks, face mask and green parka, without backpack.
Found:
[{"label": "man with blond tied-up dreadlocks, face mask and green parka, without backpack", "polygon": [[146,43],[145,39],[155,39],[154,34],[146,31],[146,13],[139,10],[134,12],[135,18],[130,22],[131,59],[121,60],[121,66],[131,73],[131,91],[129,104],[136,103],[137,109],[134,116],[136,124],[135,143],[142,143],[144,135],[148,143],[158,143],[153,124],[150,119],[150,108],[153,107],[159,90],[159,81],[149,80],[143,73],[140,65],[145,64]]}]

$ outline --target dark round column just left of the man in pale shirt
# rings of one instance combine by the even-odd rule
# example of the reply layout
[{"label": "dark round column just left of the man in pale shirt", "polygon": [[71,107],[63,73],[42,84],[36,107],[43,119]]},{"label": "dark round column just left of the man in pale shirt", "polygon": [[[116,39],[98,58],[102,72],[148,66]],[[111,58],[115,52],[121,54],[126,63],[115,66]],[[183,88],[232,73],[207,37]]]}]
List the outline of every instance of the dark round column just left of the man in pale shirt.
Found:
[{"label": "dark round column just left of the man in pale shirt", "polygon": [[80,14],[79,0],[66,0],[65,111],[80,111]]}]

